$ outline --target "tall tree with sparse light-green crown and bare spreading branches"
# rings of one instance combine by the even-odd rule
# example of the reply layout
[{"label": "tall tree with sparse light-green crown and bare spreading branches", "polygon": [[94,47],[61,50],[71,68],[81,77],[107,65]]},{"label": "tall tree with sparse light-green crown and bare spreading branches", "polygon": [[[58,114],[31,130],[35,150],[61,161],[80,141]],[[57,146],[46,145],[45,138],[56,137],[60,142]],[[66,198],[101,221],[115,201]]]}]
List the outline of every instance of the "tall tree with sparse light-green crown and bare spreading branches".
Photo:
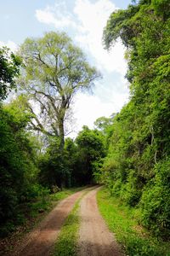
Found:
[{"label": "tall tree with sparse light-green crown and bare spreading branches", "polygon": [[88,89],[99,73],[90,67],[82,50],[65,33],[48,32],[43,38],[27,38],[20,47],[25,69],[20,85],[39,106],[32,126],[49,136],[59,137],[64,147],[65,119],[78,90]]}]

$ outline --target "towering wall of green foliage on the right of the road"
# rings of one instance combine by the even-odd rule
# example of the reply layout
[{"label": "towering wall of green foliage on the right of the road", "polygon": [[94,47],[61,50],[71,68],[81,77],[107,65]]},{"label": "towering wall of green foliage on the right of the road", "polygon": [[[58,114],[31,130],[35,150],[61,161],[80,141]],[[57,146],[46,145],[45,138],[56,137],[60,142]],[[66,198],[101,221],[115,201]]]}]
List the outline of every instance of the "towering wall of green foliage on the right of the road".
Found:
[{"label": "towering wall of green foliage on the right of the road", "polygon": [[105,48],[121,38],[127,47],[131,98],[114,120],[102,179],[111,193],[142,211],[157,235],[170,235],[170,8],[141,0],[113,13]]}]

